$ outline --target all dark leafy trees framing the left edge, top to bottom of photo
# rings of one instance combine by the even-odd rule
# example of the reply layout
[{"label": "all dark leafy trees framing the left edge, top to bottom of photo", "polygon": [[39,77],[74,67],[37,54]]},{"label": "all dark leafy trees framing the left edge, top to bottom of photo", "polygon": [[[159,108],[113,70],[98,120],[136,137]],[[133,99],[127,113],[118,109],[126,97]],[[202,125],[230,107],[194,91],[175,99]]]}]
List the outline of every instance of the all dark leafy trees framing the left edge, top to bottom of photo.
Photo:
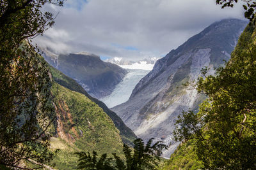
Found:
[{"label": "all dark leafy trees framing the left edge, top to bottom of photo", "polygon": [[51,76],[36,48],[24,41],[54,23],[45,3],[62,0],[3,0],[0,8],[0,164],[29,169],[42,167],[54,155],[49,127],[54,121]]}]

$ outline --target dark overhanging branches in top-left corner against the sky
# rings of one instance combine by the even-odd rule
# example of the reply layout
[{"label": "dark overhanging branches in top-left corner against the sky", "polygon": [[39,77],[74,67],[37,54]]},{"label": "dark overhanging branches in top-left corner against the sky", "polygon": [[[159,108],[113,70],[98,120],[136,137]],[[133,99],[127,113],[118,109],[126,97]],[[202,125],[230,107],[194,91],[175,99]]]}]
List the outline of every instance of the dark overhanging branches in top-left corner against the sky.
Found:
[{"label": "dark overhanging branches in top-left corner against the sky", "polygon": [[0,62],[8,66],[15,59],[20,42],[42,34],[54,24],[52,13],[42,13],[45,3],[62,5],[63,0],[3,0],[0,10]]}]

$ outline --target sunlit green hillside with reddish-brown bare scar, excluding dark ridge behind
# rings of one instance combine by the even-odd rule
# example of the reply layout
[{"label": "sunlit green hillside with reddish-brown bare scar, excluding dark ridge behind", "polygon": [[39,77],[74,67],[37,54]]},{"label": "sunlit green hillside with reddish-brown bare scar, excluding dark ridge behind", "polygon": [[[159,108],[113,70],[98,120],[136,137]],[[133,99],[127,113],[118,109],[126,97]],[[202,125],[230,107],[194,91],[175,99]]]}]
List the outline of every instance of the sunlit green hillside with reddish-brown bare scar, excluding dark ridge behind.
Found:
[{"label": "sunlit green hillside with reddish-brown bare scar, excluding dark ridge behind", "polygon": [[[56,167],[74,169],[74,152],[117,153],[122,155],[122,139],[111,118],[88,97],[52,83],[55,97],[56,132],[59,138],[52,138],[53,148],[60,149]],[[57,142],[57,141],[58,142]]]}]

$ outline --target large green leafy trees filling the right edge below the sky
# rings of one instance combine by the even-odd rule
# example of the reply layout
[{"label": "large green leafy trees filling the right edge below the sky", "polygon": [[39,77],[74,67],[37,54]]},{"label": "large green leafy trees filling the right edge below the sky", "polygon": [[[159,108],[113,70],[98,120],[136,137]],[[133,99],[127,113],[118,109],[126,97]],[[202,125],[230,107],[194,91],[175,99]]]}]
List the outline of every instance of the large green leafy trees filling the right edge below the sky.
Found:
[{"label": "large green leafy trees filling the right edge below the sky", "polygon": [[253,169],[256,166],[255,26],[239,38],[231,59],[216,76],[198,78],[195,87],[209,98],[198,114],[184,112],[175,138],[195,139],[196,155],[205,169]]}]

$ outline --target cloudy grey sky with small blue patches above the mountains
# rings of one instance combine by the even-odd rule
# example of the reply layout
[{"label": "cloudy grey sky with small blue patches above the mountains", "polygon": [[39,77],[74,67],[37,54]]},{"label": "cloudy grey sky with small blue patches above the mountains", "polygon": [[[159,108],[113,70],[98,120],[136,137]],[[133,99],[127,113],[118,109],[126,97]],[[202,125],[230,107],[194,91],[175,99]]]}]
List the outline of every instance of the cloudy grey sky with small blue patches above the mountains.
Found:
[{"label": "cloudy grey sky with small blue patches above the mountains", "polygon": [[164,57],[213,22],[244,19],[241,4],[221,9],[214,0],[67,0],[43,10],[56,16],[55,24],[34,43],[104,59]]}]

